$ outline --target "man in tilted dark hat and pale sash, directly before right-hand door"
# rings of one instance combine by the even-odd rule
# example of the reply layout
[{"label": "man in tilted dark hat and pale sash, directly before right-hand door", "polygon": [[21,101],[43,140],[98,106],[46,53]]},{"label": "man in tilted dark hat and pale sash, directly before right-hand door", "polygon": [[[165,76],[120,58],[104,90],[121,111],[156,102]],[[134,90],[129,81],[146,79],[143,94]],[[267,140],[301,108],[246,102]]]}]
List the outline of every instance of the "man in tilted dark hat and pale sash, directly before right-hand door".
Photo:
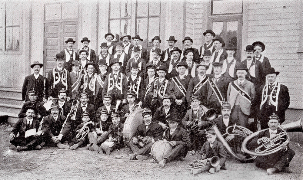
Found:
[{"label": "man in tilted dark hat and pale sash, directly before right-hand door", "polygon": [[212,39],[215,45],[215,51],[211,55],[211,63],[212,62],[220,62],[227,58],[226,50],[223,49],[225,47],[225,42],[221,37],[215,37]]}]

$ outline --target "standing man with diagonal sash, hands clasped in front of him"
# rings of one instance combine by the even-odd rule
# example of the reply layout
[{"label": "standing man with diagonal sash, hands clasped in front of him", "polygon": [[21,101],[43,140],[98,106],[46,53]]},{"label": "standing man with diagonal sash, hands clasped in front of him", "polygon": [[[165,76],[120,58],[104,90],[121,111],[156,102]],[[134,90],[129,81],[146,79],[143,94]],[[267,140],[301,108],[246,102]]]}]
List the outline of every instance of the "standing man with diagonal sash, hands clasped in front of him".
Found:
[{"label": "standing man with diagonal sash, hands clasped in front of him", "polygon": [[185,61],[181,61],[177,64],[177,68],[179,75],[171,78],[168,94],[172,97],[174,106],[178,111],[178,118],[181,119],[184,117],[186,110],[188,109],[186,92],[190,77],[185,75],[185,70],[187,68],[187,63]]}]

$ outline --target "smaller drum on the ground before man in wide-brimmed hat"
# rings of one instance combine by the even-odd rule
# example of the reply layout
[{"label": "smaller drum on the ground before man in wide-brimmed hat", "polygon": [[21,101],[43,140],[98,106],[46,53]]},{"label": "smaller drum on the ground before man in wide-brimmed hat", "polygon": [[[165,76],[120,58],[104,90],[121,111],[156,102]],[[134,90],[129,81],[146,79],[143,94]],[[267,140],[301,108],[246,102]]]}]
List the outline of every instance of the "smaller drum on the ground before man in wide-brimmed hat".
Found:
[{"label": "smaller drum on the ground before man in wide-brimmed hat", "polygon": [[158,140],[151,146],[151,156],[160,162],[171,150],[172,147],[167,140]]}]

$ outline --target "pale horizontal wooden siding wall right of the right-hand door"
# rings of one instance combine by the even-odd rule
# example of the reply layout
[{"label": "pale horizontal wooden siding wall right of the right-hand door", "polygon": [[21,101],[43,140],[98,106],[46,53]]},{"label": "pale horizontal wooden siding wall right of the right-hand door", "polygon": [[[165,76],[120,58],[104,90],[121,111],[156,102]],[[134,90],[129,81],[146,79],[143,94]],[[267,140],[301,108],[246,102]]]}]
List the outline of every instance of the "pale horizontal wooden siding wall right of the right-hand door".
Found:
[{"label": "pale horizontal wooden siding wall right of the right-hand door", "polygon": [[288,87],[289,108],[295,109],[303,109],[303,61],[297,53],[300,11],[300,0],[252,0],[248,4],[248,19],[243,19],[248,21],[247,42],[243,44],[264,42],[266,48],[262,54],[280,71],[277,81]]}]

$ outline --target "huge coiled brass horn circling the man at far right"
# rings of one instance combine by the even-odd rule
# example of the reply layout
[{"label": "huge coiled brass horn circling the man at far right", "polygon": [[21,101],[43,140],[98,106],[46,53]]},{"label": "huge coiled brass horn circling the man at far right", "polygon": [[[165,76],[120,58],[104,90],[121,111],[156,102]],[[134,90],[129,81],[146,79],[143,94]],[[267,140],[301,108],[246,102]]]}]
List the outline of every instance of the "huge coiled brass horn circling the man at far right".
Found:
[{"label": "huge coiled brass horn circling the man at far right", "polygon": [[287,135],[287,132],[303,132],[303,122],[300,118],[295,122],[283,124],[280,126],[280,128],[282,129],[282,131],[279,134],[276,134],[274,137],[270,138],[268,142],[263,142],[261,146],[258,146],[254,150],[254,152],[249,151],[246,148],[247,142],[255,138],[255,136],[257,136],[259,133],[264,132],[269,128],[252,133],[243,140],[241,150],[247,154],[255,156],[265,156],[278,152],[282,149],[282,146],[287,145],[287,143],[289,142],[290,138]]}]

